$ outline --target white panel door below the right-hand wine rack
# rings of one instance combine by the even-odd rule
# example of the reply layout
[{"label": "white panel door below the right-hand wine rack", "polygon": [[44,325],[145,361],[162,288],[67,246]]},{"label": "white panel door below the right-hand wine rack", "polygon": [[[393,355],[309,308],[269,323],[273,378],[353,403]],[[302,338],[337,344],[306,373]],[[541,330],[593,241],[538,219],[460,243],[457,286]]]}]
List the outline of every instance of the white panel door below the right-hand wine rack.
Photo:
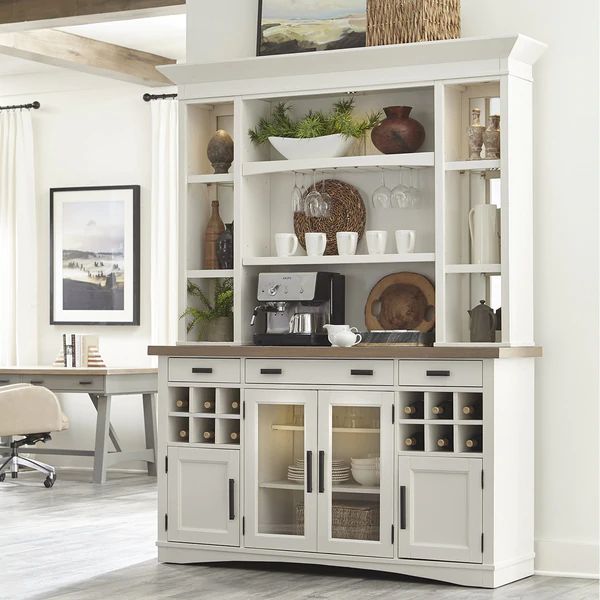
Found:
[{"label": "white panel door below the right-hand wine rack", "polygon": [[480,458],[399,460],[399,556],[482,562]]}]

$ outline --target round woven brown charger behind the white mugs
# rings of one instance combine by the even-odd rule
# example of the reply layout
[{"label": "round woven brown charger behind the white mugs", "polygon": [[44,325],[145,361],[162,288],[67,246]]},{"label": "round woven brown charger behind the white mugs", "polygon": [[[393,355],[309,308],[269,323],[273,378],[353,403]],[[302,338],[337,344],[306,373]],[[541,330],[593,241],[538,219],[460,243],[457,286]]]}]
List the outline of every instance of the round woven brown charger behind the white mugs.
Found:
[{"label": "round woven brown charger behind the white mugs", "polygon": [[[294,213],[294,231],[298,242],[305,250],[305,233],[325,233],[327,235],[325,254],[337,254],[335,234],[338,231],[356,231],[359,241],[362,238],[367,218],[365,203],[360,192],[353,185],[337,179],[326,179],[317,183],[316,187],[319,192],[325,190],[333,200],[330,216],[316,218],[307,217],[303,213]],[[311,187],[306,193],[310,193],[313,189]]]}]

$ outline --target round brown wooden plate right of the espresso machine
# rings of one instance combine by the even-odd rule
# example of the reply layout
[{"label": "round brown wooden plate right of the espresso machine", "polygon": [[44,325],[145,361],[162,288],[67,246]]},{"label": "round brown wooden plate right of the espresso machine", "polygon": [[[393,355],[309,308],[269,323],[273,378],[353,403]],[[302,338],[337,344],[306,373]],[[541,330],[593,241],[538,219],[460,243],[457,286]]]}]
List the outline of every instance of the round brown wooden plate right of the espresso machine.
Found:
[{"label": "round brown wooden plate right of the espresso machine", "polygon": [[431,331],[435,325],[435,290],[418,273],[393,273],[381,279],[365,305],[365,324],[374,329]]}]

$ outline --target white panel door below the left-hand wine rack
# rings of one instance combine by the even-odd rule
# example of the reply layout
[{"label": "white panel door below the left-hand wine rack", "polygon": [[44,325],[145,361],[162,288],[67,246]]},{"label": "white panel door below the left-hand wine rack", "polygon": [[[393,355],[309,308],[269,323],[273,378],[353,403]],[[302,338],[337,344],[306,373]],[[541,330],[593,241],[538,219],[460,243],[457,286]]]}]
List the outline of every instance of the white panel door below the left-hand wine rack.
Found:
[{"label": "white panel door below the left-hand wine rack", "polygon": [[239,450],[169,448],[170,542],[240,545]]}]

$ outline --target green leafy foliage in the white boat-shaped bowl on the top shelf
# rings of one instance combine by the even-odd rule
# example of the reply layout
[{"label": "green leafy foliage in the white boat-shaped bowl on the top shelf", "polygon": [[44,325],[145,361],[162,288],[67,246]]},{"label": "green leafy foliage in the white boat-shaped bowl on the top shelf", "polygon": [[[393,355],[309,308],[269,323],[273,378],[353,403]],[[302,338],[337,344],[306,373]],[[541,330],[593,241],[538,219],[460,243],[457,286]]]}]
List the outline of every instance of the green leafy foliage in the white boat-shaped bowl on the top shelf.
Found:
[{"label": "green leafy foliage in the white boat-shaped bowl on the top shelf", "polygon": [[287,102],[276,104],[270,118],[261,119],[255,129],[249,130],[250,139],[255,144],[264,144],[270,137],[315,138],[340,133],[359,138],[383,118],[381,112],[369,113],[364,119],[354,118],[352,98],[339,100],[330,112],[310,111],[298,121],[291,118],[291,109]]}]

